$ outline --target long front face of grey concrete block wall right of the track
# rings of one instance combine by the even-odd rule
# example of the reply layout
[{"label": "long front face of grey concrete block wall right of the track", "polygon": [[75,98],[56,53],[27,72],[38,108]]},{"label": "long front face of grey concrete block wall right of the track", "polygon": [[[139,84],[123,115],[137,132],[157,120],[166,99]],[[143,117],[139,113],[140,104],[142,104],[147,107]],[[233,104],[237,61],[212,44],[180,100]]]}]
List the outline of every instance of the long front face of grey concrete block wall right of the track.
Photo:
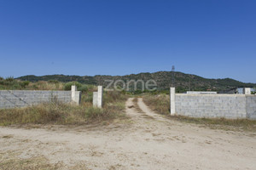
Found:
[{"label": "long front face of grey concrete block wall right of the track", "polygon": [[183,116],[247,118],[244,94],[176,94],[175,107]]}]

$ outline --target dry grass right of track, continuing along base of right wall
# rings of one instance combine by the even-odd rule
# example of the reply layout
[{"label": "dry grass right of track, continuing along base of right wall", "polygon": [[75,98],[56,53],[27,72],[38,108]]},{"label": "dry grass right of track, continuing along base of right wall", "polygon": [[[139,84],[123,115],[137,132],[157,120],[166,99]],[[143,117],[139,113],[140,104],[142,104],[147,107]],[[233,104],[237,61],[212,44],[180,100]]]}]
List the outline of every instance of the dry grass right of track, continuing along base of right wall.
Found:
[{"label": "dry grass right of track, continuing along base of right wall", "polygon": [[225,119],[225,118],[194,118],[188,116],[170,116],[170,99],[169,95],[144,95],[143,101],[153,111],[165,115],[179,122],[188,122],[204,125],[211,128],[235,131],[251,131],[256,132],[256,120],[248,119]]}]

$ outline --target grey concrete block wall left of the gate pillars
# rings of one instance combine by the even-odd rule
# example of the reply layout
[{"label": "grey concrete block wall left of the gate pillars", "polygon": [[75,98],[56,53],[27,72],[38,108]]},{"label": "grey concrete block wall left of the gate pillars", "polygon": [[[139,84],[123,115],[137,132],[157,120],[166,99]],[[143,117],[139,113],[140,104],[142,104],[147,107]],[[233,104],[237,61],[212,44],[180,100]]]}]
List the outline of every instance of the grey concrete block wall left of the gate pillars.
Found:
[{"label": "grey concrete block wall left of the gate pillars", "polygon": [[71,93],[71,91],[0,90],[0,109],[37,105],[50,102],[52,99],[70,103]]}]

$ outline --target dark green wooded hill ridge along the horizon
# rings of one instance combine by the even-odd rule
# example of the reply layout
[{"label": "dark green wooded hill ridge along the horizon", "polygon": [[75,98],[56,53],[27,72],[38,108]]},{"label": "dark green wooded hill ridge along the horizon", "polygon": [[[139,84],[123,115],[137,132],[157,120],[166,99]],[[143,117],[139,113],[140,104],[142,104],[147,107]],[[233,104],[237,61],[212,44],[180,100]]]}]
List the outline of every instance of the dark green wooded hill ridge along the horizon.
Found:
[{"label": "dark green wooded hill ridge along the horizon", "polygon": [[[125,82],[129,80],[143,80],[147,81],[154,79],[157,82],[157,88],[160,90],[168,89],[172,84],[172,71],[158,71],[154,73],[143,72],[139,74],[131,74],[125,76],[105,76],[96,75],[94,77],[90,76],[66,76],[66,75],[46,75],[37,77],[34,75],[28,75],[24,77],[17,77],[22,81],[49,81],[57,80],[59,82],[72,82],[77,81],[85,84],[103,85],[107,86],[108,82],[105,80],[124,80]],[[186,90],[212,90],[212,91],[222,91],[229,90],[232,88],[253,88],[256,87],[256,83],[245,83],[239,82],[231,78],[224,79],[208,79],[204,77],[199,77],[192,74],[185,74],[183,72],[175,72],[175,87],[177,91],[183,92]]]}]

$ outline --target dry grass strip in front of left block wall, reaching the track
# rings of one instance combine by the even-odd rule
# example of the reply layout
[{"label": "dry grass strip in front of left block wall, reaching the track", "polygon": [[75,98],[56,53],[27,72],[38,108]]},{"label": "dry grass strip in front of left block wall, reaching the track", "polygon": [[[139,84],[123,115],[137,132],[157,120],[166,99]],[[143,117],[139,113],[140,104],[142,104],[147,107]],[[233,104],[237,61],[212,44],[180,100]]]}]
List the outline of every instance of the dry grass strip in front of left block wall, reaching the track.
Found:
[{"label": "dry grass strip in front of left block wall, reaching the track", "polygon": [[[122,94],[119,95],[122,96]],[[108,93],[106,96],[113,98],[115,95]],[[28,123],[80,125],[92,122],[111,122],[113,119],[125,118],[125,96],[121,98],[109,99],[102,109],[93,107],[91,102],[86,100],[79,106],[54,101],[26,108],[1,109],[0,125]]]}]

